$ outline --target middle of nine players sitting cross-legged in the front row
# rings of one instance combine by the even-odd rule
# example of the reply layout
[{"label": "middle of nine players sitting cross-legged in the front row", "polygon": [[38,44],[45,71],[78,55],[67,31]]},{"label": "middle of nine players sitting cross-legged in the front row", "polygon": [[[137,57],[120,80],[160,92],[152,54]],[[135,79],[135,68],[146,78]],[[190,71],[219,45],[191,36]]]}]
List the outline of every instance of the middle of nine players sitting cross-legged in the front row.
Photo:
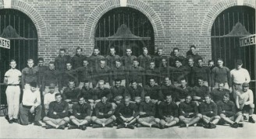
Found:
[{"label": "middle of nine players sitting cross-legged in the front row", "polygon": [[144,127],[158,127],[160,121],[155,118],[155,104],[150,96],[145,96],[145,102],[140,103],[140,118],[137,121]]}]

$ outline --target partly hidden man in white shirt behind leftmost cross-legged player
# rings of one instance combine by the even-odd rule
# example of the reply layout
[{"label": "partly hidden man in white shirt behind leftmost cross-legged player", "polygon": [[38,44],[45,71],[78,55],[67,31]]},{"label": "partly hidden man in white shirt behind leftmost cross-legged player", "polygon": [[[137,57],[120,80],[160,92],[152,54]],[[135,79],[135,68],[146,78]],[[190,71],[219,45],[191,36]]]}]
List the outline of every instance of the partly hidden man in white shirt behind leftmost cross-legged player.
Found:
[{"label": "partly hidden man in white shirt behind leftmost cross-legged player", "polygon": [[44,95],[44,112],[45,115],[47,116],[48,109],[49,109],[49,104],[55,101],[55,94],[58,92],[55,92],[55,84],[51,83],[49,85],[49,92],[46,92]]}]

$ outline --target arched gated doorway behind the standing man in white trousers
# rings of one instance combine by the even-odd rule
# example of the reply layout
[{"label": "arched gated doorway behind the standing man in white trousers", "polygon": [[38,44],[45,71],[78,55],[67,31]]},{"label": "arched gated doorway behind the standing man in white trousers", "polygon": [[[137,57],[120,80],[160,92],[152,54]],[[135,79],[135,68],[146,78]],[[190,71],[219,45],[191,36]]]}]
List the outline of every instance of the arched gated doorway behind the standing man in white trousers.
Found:
[{"label": "arched gated doorway behind the standing man in white trousers", "polygon": [[[37,30],[32,20],[16,9],[0,10],[0,37],[10,40],[10,49],[0,47],[0,82],[5,71],[9,70],[9,61],[16,60],[20,71],[27,66],[27,59],[37,63]],[[0,84],[1,96],[5,96],[5,87]],[[1,103],[5,98],[1,98]]]}]

